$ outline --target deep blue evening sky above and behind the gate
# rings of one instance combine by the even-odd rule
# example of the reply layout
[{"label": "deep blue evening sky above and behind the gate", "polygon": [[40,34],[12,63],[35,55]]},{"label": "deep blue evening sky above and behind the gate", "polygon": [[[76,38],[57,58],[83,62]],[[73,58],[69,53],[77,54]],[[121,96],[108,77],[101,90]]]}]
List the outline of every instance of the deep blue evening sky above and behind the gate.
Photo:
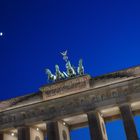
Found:
[{"label": "deep blue evening sky above and behind the gate", "polygon": [[[45,68],[65,70],[59,52],[66,49],[93,77],[139,65],[139,7],[138,0],[0,1],[0,100],[37,91],[47,82]],[[109,140],[118,124],[107,124]]]}]

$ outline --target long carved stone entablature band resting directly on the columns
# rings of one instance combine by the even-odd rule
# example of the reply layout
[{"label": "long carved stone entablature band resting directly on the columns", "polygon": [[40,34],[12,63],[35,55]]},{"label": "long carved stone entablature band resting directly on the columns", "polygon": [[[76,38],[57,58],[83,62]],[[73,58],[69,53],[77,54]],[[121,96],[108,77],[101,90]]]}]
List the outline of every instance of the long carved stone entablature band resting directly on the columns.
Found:
[{"label": "long carved stone entablature band resting directly on the columns", "polygon": [[0,112],[0,130],[140,100],[140,78]]}]

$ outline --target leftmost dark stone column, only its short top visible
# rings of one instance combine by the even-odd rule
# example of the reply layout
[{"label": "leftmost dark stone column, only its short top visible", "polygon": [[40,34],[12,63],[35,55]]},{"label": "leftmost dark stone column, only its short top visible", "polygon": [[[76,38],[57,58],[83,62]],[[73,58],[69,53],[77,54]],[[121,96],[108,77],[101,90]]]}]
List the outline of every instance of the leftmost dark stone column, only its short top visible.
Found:
[{"label": "leftmost dark stone column, only its short top visible", "polygon": [[23,126],[18,127],[18,140],[30,140],[30,128]]}]

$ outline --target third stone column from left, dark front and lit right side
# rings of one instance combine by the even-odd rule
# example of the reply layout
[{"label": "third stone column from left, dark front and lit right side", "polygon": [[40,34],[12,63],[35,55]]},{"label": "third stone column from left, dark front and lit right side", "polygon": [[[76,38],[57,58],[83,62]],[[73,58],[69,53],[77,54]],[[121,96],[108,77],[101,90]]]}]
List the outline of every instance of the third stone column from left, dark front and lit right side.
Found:
[{"label": "third stone column from left, dark front and lit right side", "polygon": [[98,112],[87,113],[91,140],[107,140],[104,120]]}]

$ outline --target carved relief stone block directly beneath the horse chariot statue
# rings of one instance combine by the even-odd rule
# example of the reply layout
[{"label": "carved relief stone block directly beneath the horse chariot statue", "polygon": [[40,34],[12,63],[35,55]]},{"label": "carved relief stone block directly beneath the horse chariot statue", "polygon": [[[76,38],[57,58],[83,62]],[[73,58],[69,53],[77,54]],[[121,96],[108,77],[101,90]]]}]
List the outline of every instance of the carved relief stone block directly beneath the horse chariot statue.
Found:
[{"label": "carved relief stone block directly beneath the horse chariot statue", "polygon": [[43,99],[49,100],[66,96],[68,94],[78,93],[89,89],[89,75],[84,75],[67,81],[58,82],[49,86],[40,88],[43,92]]}]

